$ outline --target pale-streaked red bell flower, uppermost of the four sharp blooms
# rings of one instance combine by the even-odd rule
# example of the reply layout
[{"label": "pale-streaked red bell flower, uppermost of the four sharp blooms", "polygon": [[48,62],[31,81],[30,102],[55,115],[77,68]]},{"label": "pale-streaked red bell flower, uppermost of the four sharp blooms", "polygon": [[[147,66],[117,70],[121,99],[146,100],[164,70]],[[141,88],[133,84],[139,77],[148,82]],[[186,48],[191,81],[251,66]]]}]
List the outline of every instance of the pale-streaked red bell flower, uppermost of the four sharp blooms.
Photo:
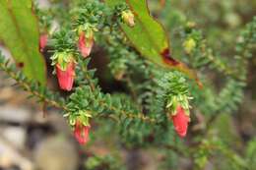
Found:
[{"label": "pale-streaked red bell flower, uppermost of the four sharp blooms", "polygon": [[94,46],[94,36],[86,37],[84,31],[79,34],[78,48],[83,57],[88,57],[91,54],[92,48]]}]

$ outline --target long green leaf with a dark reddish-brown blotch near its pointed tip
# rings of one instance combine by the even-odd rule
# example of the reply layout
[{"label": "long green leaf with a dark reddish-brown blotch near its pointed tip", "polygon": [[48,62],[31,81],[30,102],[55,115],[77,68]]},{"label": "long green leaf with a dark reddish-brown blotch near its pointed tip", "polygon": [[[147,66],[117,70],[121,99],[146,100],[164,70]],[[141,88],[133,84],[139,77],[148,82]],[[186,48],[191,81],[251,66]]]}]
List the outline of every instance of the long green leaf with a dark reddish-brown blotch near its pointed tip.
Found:
[{"label": "long green leaf with a dark reddish-brown blotch near its pointed tip", "polygon": [[169,41],[166,32],[151,15],[147,0],[105,0],[114,7],[124,2],[132,10],[135,16],[135,27],[130,28],[125,24],[121,28],[130,39],[134,47],[147,59],[159,64],[161,67],[176,69],[190,78],[196,79],[196,74],[187,66],[171,57]]}]

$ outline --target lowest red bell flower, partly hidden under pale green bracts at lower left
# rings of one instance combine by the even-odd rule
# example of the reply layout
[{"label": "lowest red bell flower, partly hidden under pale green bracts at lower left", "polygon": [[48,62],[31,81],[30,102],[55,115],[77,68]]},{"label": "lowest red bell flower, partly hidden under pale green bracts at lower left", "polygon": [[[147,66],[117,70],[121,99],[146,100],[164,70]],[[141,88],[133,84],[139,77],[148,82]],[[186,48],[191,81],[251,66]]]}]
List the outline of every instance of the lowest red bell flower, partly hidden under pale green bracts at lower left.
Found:
[{"label": "lowest red bell flower, partly hidden under pale green bracts at lower left", "polygon": [[74,136],[80,144],[89,142],[90,126],[84,126],[80,121],[76,122]]}]

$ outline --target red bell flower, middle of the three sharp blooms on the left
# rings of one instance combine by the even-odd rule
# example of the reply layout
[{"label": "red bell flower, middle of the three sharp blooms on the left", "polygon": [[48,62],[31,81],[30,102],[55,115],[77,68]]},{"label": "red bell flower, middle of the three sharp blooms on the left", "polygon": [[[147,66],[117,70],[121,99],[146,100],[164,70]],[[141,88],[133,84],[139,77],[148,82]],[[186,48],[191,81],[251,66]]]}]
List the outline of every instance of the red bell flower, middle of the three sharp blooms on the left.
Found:
[{"label": "red bell flower, middle of the three sharp blooms on the left", "polygon": [[68,63],[65,70],[62,70],[60,65],[56,64],[56,73],[60,88],[68,91],[71,90],[75,78],[75,63]]}]

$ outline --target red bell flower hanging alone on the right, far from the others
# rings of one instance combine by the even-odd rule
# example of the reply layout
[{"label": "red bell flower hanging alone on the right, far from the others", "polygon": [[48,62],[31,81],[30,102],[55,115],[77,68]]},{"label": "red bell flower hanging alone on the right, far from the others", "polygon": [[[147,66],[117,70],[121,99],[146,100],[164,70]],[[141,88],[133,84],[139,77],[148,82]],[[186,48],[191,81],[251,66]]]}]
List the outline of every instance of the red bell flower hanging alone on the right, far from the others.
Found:
[{"label": "red bell flower hanging alone on the right, far from the others", "polygon": [[187,127],[190,121],[188,115],[186,115],[185,110],[179,105],[176,109],[176,114],[171,116],[172,122],[176,133],[179,137],[184,138],[187,134]]}]

